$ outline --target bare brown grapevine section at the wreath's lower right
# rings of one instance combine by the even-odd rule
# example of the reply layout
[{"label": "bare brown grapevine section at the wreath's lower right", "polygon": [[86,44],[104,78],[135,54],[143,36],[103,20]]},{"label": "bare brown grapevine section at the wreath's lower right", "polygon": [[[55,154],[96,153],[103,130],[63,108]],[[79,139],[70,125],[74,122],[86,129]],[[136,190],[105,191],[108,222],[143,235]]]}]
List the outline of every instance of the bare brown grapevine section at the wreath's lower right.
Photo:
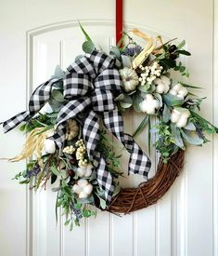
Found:
[{"label": "bare brown grapevine section at the wreath's lower right", "polygon": [[112,199],[109,211],[126,214],[156,204],[182,171],[184,156],[184,151],[179,150],[172,155],[167,164],[160,158],[155,176],[147,182],[140,183],[136,188],[122,188]]}]

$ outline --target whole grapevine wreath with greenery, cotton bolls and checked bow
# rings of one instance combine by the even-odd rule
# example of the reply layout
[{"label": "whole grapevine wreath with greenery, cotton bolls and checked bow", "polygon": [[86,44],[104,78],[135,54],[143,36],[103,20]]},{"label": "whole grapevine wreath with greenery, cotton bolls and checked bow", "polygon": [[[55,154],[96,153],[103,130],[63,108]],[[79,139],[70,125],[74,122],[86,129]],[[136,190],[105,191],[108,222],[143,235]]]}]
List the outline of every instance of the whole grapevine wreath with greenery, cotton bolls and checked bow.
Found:
[{"label": "whole grapevine wreath with greenery, cotton bolls and checked bow", "polygon": [[[14,179],[35,191],[48,182],[57,184],[56,209],[63,209],[71,228],[83,217],[96,215],[86,204],[128,213],[156,203],[184,167],[186,144],[201,146],[208,141],[205,134],[218,133],[199,115],[204,98],[193,93],[198,87],[183,82],[189,74],[178,59],[190,55],[185,41],[163,43],[160,36],[134,29],[123,32],[108,55],[80,26],[86,38],[84,55],[65,72],[58,66],[33,91],[29,110],[3,123],[7,132],[24,122],[20,130],[27,133],[22,152],[9,159],[28,159]],[[131,34],[145,40],[146,47]],[[172,72],[181,74],[181,81],[173,80]],[[133,136],[123,131],[122,113],[130,109],[144,113]],[[134,140],[146,127],[149,151],[153,146],[160,153],[156,174],[149,180],[151,161]],[[154,143],[151,133],[156,135]],[[136,188],[119,185],[123,173],[116,143],[130,154],[128,172],[145,178]]]}]

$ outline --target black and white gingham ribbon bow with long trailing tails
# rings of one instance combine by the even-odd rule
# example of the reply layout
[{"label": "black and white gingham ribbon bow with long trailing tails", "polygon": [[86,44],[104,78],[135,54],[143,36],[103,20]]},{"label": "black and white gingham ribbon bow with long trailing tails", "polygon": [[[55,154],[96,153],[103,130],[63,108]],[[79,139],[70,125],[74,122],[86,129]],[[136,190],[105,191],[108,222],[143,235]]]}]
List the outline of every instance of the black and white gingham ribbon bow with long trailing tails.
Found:
[{"label": "black and white gingham ribbon bow with long trailing tails", "polygon": [[[67,120],[86,111],[83,123],[83,140],[87,153],[96,168],[97,182],[105,193],[107,203],[114,191],[111,174],[104,157],[98,151],[100,119],[106,128],[125,146],[130,153],[129,172],[138,173],[147,178],[151,162],[147,155],[135,143],[133,137],[123,132],[122,115],[118,111],[114,98],[122,92],[122,82],[115,60],[104,53],[92,52],[89,58],[82,57],[73,62],[63,79],[64,104],[57,118],[56,134],[49,139],[61,147],[65,140]],[[5,131],[15,128],[23,120],[28,120],[49,100],[52,86],[58,79],[51,79],[32,94],[29,111],[12,117],[4,123]]]}]

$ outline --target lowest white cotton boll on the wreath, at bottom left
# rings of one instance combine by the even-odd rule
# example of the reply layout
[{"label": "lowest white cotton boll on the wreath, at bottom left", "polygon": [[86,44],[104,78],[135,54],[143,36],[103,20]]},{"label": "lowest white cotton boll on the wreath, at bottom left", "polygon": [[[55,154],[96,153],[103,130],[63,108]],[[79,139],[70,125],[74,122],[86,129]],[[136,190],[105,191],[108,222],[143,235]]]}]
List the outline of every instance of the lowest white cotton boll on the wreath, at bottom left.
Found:
[{"label": "lowest white cotton boll on the wreath, at bottom left", "polygon": [[79,196],[79,198],[87,198],[93,191],[93,185],[87,180],[80,179],[77,184],[72,186],[72,191]]}]

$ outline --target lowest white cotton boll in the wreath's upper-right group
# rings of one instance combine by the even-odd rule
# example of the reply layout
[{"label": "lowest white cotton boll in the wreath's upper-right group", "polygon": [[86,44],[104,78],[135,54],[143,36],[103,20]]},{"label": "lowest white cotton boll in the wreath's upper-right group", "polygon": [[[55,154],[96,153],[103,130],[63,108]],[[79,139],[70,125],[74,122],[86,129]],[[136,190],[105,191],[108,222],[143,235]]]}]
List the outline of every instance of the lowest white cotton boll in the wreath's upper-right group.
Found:
[{"label": "lowest white cotton boll in the wreath's upper-right group", "polygon": [[174,108],[171,115],[171,122],[174,123],[177,128],[184,128],[186,127],[189,115],[190,112],[185,108]]}]

